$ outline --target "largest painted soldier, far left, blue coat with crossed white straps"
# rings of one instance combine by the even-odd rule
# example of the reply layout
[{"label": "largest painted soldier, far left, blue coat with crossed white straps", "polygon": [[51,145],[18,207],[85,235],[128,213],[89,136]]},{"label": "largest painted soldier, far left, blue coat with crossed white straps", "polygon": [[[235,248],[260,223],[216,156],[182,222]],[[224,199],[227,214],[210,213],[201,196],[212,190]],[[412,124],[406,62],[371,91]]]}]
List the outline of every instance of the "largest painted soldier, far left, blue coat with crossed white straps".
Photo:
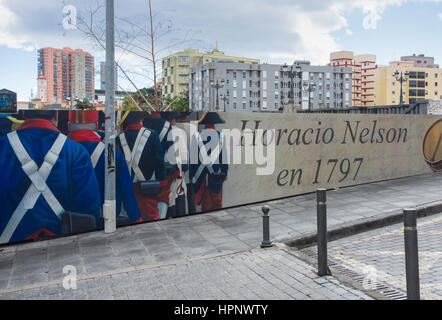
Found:
[{"label": "largest painted soldier, far left, blue coat with crossed white straps", "polygon": [[59,235],[66,212],[91,216],[98,227],[100,191],[89,154],[57,129],[57,111],[24,115],[17,131],[0,138],[0,243]]}]

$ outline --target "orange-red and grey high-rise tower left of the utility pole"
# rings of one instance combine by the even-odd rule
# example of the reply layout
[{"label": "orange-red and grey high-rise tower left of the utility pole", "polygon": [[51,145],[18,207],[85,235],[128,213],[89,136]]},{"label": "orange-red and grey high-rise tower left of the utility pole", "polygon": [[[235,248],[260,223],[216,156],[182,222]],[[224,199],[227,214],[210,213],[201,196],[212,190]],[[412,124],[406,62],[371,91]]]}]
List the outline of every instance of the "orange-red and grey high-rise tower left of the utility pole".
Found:
[{"label": "orange-red and grey high-rise tower left of the utility pole", "polygon": [[[42,103],[63,103],[73,99],[92,100],[95,90],[94,57],[80,49],[38,50],[38,98]],[[40,96],[42,90],[45,96]]]}]

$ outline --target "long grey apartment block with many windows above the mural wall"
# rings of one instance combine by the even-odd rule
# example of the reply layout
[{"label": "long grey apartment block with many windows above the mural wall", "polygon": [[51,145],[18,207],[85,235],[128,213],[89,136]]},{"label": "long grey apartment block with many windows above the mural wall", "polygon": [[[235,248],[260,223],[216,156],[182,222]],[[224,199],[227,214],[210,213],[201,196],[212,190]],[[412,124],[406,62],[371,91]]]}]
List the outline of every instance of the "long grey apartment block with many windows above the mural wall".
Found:
[{"label": "long grey apartment block with many windows above the mural wall", "polygon": [[351,79],[349,67],[311,66],[308,61],[293,65],[216,61],[191,68],[189,107],[226,112],[280,112],[288,105],[348,108]]}]

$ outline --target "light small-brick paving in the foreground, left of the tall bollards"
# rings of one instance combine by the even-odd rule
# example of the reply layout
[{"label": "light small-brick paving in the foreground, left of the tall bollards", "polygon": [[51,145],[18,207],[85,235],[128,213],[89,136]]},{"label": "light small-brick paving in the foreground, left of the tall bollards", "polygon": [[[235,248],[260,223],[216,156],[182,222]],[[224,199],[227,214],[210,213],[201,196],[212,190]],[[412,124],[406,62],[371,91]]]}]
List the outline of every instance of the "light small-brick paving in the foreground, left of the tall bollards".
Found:
[{"label": "light small-brick paving in the foreground, left of the tall bollards", "polygon": [[371,300],[333,277],[272,248],[138,271],[114,270],[79,279],[76,290],[61,284],[0,295],[1,299],[118,300]]}]

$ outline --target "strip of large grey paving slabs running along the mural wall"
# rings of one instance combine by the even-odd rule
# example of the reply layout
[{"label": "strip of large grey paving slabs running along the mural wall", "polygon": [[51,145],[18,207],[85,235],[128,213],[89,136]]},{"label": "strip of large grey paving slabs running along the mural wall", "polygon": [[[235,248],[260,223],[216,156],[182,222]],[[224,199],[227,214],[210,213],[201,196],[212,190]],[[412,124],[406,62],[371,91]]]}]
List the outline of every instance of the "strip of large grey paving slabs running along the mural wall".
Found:
[{"label": "strip of large grey paving slabs running along the mural wall", "polygon": [[[330,227],[442,199],[442,174],[428,174],[328,193]],[[275,241],[316,230],[316,196],[271,201]],[[5,290],[63,279],[63,267],[79,276],[161,265],[226,251],[254,249],[262,241],[262,204],[181,219],[0,248],[0,296]]]}]

